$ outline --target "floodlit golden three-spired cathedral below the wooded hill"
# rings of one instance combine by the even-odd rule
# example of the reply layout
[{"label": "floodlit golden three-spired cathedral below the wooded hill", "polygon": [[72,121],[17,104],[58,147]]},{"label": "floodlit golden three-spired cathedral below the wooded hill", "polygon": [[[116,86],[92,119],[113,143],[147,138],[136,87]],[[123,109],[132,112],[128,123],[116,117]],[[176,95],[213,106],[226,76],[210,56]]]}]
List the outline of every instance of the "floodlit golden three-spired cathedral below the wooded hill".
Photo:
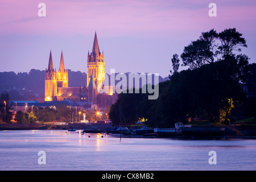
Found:
[{"label": "floodlit golden three-spired cathedral below the wooded hill", "polygon": [[[100,52],[97,34],[95,32],[92,52],[87,57],[87,85],[68,87],[68,69],[65,69],[63,52],[60,56],[59,69],[53,68],[52,52],[49,54],[48,69],[46,69],[44,101],[72,100],[84,102],[99,107],[107,107],[117,100],[117,94],[98,93],[97,86],[105,79],[104,52]],[[81,81],[82,82],[82,81]],[[108,88],[110,90],[110,86]]]}]

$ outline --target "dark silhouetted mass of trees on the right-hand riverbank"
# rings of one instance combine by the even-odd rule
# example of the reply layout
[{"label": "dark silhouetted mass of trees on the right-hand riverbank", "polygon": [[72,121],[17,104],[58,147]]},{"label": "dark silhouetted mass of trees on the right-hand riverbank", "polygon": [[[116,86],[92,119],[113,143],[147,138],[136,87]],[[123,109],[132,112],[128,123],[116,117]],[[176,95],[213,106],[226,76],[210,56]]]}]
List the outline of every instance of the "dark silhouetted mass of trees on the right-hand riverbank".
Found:
[{"label": "dark silhouetted mass of trees on the right-hand riverbank", "polygon": [[157,100],[148,94],[121,93],[112,105],[109,118],[127,125],[139,118],[149,126],[173,127],[188,118],[207,119],[228,124],[243,117],[256,117],[256,64],[249,64],[246,55],[238,54],[247,47],[236,28],[220,33],[203,32],[200,38],[184,48],[181,59],[189,69],[178,72],[179,56],[172,58],[170,80],[160,82]]}]

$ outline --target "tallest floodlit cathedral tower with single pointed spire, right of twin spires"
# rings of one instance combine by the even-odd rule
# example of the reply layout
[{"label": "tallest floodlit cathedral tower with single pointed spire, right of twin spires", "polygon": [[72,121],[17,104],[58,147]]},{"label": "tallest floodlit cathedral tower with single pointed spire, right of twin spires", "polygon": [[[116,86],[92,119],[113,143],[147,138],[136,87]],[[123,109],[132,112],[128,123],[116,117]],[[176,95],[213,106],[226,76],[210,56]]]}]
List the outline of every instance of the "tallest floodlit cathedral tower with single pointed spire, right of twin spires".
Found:
[{"label": "tallest floodlit cathedral tower with single pointed spire, right of twin spires", "polygon": [[96,87],[105,79],[105,61],[104,52],[100,52],[100,47],[98,46],[97,34],[95,32],[92,52],[89,53],[87,57],[87,86],[90,83],[90,77],[93,77],[94,84]]}]

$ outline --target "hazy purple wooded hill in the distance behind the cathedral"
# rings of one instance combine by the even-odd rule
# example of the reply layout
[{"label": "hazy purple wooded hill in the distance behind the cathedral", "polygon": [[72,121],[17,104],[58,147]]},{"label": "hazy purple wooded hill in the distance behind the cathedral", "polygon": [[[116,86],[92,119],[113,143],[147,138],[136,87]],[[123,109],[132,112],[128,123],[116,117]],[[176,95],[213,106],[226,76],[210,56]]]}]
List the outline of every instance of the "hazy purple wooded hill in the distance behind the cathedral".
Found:
[{"label": "hazy purple wooded hill in the distance behind the cathedral", "polygon": [[[129,77],[129,72],[124,74],[127,78]],[[138,74],[140,75],[141,73]],[[39,100],[39,98],[43,100],[44,75],[45,71],[38,69],[31,69],[28,73],[19,72],[18,74],[15,72],[0,72],[0,93],[9,93],[11,100]],[[84,86],[87,84],[86,77],[86,73],[80,71],[74,72],[68,69],[68,86]],[[159,82],[168,79],[168,77],[159,77]],[[115,81],[115,84],[117,82],[119,81]],[[141,85],[139,86],[141,87]]]}]

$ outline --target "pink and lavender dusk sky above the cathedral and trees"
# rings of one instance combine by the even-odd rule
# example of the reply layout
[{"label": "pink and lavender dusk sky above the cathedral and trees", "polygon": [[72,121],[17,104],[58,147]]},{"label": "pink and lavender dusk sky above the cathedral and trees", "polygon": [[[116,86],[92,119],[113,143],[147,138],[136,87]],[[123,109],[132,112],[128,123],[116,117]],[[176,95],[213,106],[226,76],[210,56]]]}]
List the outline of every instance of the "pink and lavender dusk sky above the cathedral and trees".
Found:
[{"label": "pink and lavender dusk sky above the cathedral and trees", "polygon": [[[46,17],[38,16],[40,2],[46,4]],[[208,15],[208,5],[211,2],[217,5],[217,17]],[[156,59],[160,59],[158,63],[168,64],[171,68],[170,60],[174,53],[180,54],[184,46],[199,38],[201,32],[212,28],[218,32],[225,28],[237,28],[247,40],[248,48],[244,53],[255,60],[255,22],[256,1],[2,0],[0,61],[7,60],[12,66],[5,65],[0,71],[23,72],[32,68],[45,69],[50,48],[56,49],[53,55],[56,55],[57,67],[59,51],[65,48],[64,61],[67,59],[65,65],[69,66],[68,69],[86,72],[79,66],[69,64],[72,58],[77,59],[77,65],[84,61],[84,57],[81,57],[84,52],[79,55],[79,52],[74,51],[76,48],[69,47],[69,44],[72,43],[73,47],[76,45],[77,49],[84,49],[85,52],[91,51],[95,30],[101,51],[103,49],[105,56],[109,56],[105,57],[106,61],[109,60],[106,68],[115,68],[119,65],[117,70],[120,72],[154,72],[167,76],[170,69],[155,65]],[[14,36],[18,39],[15,40]],[[81,36],[88,42],[72,42],[75,40],[70,38],[76,36]],[[134,38],[134,41],[127,38]],[[60,42],[61,39],[65,42]],[[119,50],[120,54],[116,52],[115,46],[112,45],[114,40],[126,51]],[[38,46],[38,49],[31,52],[36,43],[43,46]],[[134,50],[134,44],[135,47],[141,48],[141,51]],[[26,48],[22,47],[24,45]],[[18,55],[10,56],[10,53],[15,52]],[[148,57],[143,56],[147,54]],[[119,60],[120,56],[125,58]],[[39,64],[32,62],[35,58],[39,59]],[[27,67],[21,66],[20,62],[28,63]],[[126,64],[127,69],[123,69],[121,66]],[[137,64],[136,69],[131,66],[133,64]]]}]

